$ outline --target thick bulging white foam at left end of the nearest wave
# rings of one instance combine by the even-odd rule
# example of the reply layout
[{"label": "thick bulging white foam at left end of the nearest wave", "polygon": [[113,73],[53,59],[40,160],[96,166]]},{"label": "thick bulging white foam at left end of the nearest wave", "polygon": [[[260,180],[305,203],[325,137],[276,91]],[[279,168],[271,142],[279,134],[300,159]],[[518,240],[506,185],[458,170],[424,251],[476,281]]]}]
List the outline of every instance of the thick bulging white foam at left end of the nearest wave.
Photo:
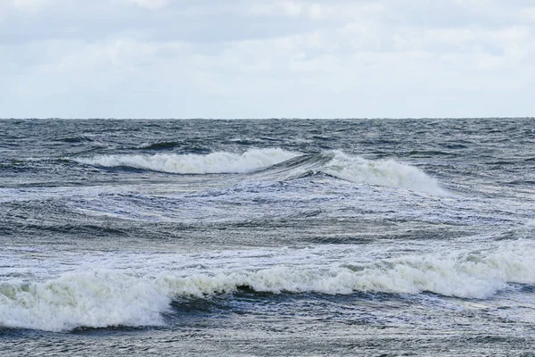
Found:
[{"label": "thick bulging white foam at left end of the nearest wave", "polygon": [[0,325],[61,331],[161,325],[169,298],[153,282],[111,272],[67,273],[40,284],[0,284]]}]

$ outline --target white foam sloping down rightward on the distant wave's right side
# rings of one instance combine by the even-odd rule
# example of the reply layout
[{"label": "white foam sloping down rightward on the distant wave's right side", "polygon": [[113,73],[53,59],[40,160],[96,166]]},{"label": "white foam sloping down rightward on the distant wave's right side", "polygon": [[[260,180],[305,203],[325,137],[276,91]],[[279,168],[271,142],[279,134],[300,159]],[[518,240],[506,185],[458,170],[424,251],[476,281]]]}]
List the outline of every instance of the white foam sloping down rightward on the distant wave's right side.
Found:
[{"label": "white foam sloping down rightward on the distant wave's right side", "polygon": [[340,151],[325,167],[325,173],[358,184],[402,187],[432,194],[445,194],[436,179],[414,166],[393,160],[366,160]]}]

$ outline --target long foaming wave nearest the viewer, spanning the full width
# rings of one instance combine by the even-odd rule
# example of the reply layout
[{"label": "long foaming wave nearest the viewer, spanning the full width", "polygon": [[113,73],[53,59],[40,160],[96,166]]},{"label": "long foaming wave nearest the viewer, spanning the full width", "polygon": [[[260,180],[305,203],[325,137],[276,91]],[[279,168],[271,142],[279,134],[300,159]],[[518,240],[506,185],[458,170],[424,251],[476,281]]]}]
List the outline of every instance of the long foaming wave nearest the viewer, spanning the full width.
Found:
[{"label": "long foaming wave nearest the viewer, spanning the full width", "polygon": [[41,283],[0,284],[0,326],[50,331],[160,326],[174,299],[221,294],[232,299],[240,288],[273,294],[431,292],[481,299],[509,283],[535,284],[534,253],[531,243],[516,241],[487,252],[428,253],[359,264],[279,262],[268,268],[187,276],[171,270],[152,276],[117,270],[70,272]]}]

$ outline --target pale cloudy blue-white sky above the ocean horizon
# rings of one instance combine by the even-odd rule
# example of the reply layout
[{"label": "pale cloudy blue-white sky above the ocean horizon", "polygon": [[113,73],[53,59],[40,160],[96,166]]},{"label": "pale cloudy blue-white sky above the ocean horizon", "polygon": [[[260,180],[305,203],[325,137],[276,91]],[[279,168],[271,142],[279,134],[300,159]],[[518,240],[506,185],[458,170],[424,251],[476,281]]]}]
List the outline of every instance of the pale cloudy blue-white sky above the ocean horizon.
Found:
[{"label": "pale cloudy blue-white sky above the ocean horizon", "polygon": [[0,118],[535,116],[532,0],[0,0]]}]

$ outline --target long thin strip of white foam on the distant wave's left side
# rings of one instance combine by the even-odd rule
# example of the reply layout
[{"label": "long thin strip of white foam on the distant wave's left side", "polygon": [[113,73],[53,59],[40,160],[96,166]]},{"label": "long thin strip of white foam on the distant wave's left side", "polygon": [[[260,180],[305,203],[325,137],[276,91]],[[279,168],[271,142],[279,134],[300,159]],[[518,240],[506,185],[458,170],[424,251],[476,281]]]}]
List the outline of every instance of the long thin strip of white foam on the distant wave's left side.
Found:
[{"label": "long thin strip of white foam on the distant wave's left side", "polygon": [[298,154],[278,148],[251,149],[243,154],[154,154],[101,155],[77,159],[77,162],[103,167],[128,166],[178,174],[245,173],[267,168],[292,159]]}]

